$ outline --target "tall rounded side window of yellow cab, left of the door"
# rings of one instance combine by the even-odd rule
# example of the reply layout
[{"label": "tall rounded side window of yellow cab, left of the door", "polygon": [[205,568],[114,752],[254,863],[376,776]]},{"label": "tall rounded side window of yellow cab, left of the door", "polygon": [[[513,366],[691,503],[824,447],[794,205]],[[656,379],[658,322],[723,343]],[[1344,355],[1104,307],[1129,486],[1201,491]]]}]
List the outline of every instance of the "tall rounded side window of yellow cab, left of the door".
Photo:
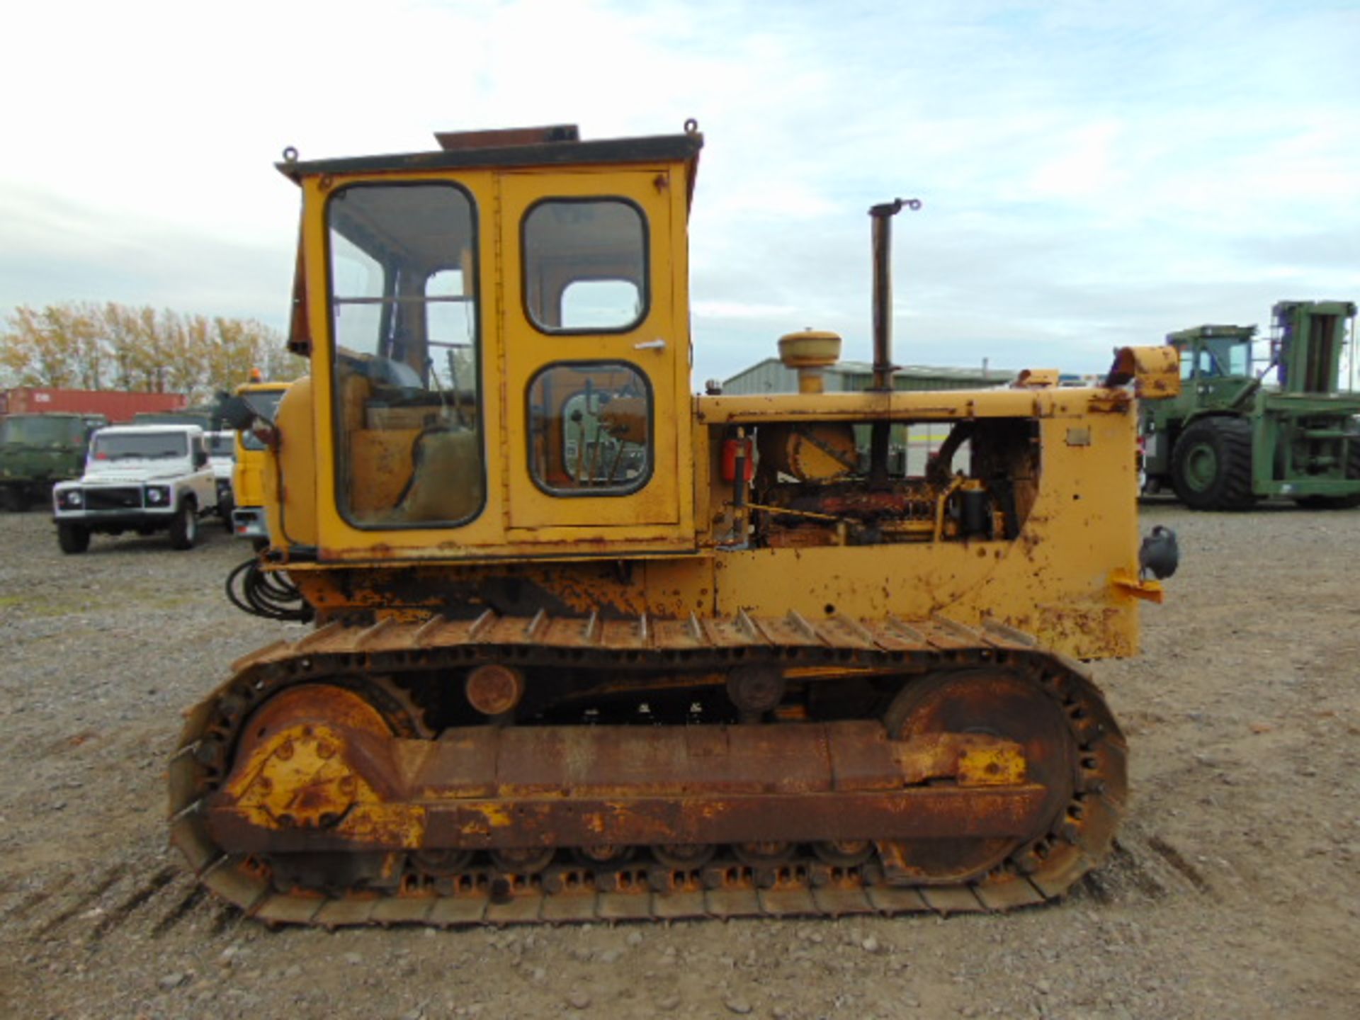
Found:
[{"label": "tall rounded side window of yellow cab, left of the door", "polygon": [[336,502],[359,528],[481,510],[476,219],[453,184],[356,184],[326,207]]}]

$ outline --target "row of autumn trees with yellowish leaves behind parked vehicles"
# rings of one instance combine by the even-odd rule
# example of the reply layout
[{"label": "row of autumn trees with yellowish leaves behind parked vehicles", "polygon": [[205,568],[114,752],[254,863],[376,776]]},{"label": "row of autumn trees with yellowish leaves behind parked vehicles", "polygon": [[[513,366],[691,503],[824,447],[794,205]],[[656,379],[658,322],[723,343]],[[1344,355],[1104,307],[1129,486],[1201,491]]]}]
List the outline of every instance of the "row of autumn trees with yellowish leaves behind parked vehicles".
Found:
[{"label": "row of autumn trees with yellowish leaves behind parked vehicles", "polygon": [[234,390],[260,369],[294,379],[307,363],[254,320],[107,302],[16,307],[0,332],[0,385],[186,393]]}]

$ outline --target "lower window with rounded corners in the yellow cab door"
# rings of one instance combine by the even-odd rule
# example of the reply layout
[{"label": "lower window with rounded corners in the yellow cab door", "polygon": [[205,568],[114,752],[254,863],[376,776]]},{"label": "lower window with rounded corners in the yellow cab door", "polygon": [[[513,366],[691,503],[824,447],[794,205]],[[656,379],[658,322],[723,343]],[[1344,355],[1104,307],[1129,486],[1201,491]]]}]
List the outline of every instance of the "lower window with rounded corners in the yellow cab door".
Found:
[{"label": "lower window with rounded corners in the yellow cab door", "polygon": [[549,364],[529,384],[529,471],[552,495],[627,495],[651,476],[651,390],[623,362]]}]

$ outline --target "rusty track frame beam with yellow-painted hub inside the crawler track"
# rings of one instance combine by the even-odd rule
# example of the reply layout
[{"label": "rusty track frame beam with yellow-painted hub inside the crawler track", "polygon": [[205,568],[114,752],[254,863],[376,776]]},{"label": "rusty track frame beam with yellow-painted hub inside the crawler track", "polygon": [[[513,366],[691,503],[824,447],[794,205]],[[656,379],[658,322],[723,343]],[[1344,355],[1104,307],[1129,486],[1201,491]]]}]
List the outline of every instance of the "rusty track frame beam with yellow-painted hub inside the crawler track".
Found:
[{"label": "rusty track frame beam with yellow-painted hub inside the crawler track", "polygon": [[[922,786],[938,779],[956,785]],[[982,734],[885,740],[854,721],[400,740],[324,684],[254,713],[208,797],[212,835],[248,853],[1019,838],[1043,802],[1020,747]]]}]

